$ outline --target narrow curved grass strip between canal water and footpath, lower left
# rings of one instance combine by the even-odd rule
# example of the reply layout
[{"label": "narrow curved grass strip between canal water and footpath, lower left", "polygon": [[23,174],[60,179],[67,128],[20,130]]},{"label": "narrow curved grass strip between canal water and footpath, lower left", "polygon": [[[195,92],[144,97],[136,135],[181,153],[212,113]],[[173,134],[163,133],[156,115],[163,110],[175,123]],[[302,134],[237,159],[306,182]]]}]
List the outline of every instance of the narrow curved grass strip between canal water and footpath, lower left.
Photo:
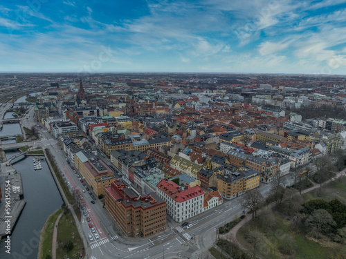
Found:
[{"label": "narrow curved grass strip between canal water and footpath, lower left", "polygon": [[62,209],[58,209],[52,215],[48,217],[44,228],[42,229],[41,241],[39,247],[39,256],[38,259],[45,259],[46,256],[52,256],[52,238],[53,238],[53,229],[55,220],[57,216],[62,212]]}]

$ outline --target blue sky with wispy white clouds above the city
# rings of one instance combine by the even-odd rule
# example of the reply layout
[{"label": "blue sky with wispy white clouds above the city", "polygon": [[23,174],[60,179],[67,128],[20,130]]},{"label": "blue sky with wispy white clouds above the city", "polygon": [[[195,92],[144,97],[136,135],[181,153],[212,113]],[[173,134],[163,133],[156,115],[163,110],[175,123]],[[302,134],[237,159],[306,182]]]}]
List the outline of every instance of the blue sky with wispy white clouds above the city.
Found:
[{"label": "blue sky with wispy white clouds above the city", "polygon": [[346,74],[346,1],[2,0],[0,72]]}]

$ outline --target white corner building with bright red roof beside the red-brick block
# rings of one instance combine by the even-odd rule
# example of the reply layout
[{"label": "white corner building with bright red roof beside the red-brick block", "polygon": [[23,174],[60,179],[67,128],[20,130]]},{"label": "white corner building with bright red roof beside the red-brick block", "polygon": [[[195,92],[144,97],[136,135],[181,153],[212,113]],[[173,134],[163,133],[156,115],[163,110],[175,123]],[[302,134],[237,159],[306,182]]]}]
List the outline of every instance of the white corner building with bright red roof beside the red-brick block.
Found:
[{"label": "white corner building with bright red roof beside the red-brick block", "polygon": [[204,211],[204,192],[199,185],[179,186],[163,179],[156,185],[156,193],[166,202],[167,213],[176,222],[182,222]]}]

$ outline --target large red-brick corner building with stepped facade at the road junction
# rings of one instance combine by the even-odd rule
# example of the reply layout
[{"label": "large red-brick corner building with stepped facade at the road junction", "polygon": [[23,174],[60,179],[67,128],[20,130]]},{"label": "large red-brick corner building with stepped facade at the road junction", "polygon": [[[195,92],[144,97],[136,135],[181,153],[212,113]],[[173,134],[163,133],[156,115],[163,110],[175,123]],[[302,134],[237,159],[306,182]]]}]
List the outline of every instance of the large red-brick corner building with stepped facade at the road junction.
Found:
[{"label": "large red-brick corner building with stepped facade at the road junction", "polygon": [[156,193],[138,195],[119,179],[106,187],[104,206],[126,236],[147,238],[166,229],[166,202]]}]

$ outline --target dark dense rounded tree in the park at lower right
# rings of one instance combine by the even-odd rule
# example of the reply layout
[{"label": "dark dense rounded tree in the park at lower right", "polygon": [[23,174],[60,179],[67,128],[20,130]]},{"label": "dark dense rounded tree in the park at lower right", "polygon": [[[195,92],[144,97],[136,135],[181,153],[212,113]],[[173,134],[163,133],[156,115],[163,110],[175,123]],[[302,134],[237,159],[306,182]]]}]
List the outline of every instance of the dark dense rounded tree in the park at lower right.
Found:
[{"label": "dark dense rounded tree in the park at lower right", "polygon": [[320,237],[320,233],[329,234],[336,226],[333,217],[325,209],[317,209],[313,211],[306,221],[307,227],[310,227],[316,234],[316,238]]}]

